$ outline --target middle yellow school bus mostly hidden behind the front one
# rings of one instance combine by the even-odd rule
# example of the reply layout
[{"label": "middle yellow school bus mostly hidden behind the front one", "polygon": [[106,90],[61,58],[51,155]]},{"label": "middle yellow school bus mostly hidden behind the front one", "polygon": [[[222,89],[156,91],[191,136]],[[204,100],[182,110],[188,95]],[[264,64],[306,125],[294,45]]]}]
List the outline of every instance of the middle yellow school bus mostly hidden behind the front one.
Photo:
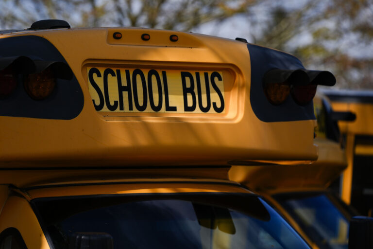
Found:
[{"label": "middle yellow school bus mostly hidden behind the front one", "polygon": [[[356,211],[330,184],[347,167],[338,120],[353,121],[351,112],[334,111],[325,96],[314,99],[319,158],[311,165],[232,166],[229,176],[265,196],[314,249],[348,248],[349,222]],[[337,184],[338,185],[338,184]]]}]

